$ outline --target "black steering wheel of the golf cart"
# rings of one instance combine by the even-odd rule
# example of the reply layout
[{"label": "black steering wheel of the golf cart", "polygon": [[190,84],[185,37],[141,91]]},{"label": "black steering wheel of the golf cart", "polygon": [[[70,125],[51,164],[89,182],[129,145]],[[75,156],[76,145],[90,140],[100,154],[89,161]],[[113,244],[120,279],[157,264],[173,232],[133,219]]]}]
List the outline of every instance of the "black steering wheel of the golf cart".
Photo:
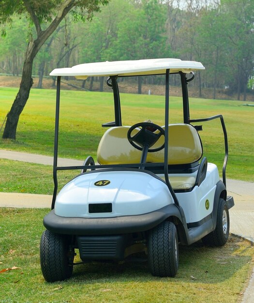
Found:
[{"label": "black steering wheel of the golf cart", "polygon": [[[134,136],[131,136],[133,130],[137,127],[140,128],[140,131]],[[153,132],[149,129],[152,129]],[[158,130],[159,133],[154,133],[156,130]],[[165,136],[165,131],[161,126],[150,122],[140,122],[130,127],[127,138],[131,145],[139,151],[142,151],[144,146],[147,145],[149,147],[148,152],[158,152],[164,148],[165,142],[157,148],[150,149],[150,147],[153,146],[162,135]]]}]

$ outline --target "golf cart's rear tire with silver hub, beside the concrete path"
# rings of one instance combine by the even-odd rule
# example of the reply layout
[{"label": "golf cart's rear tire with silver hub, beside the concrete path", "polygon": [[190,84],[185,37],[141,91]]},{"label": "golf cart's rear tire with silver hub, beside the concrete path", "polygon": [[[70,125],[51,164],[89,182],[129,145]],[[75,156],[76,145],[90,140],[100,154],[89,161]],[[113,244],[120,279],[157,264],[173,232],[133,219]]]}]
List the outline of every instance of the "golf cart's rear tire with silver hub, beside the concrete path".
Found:
[{"label": "golf cart's rear tire with silver hub, beside the concrete path", "polygon": [[224,199],[220,198],[217,210],[217,222],[214,231],[202,238],[203,243],[212,246],[223,246],[229,235],[229,212]]}]

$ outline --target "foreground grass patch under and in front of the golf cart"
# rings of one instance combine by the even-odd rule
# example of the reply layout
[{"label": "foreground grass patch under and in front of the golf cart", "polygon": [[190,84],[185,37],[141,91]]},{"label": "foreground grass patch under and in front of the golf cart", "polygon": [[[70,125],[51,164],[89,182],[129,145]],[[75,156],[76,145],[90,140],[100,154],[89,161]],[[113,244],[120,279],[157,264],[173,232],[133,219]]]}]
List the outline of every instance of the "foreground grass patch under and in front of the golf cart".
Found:
[{"label": "foreground grass patch under and in front of the golf cart", "polygon": [[40,271],[39,242],[48,211],[0,210],[0,270],[21,268],[0,273],[0,303],[233,303],[239,301],[252,270],[254,249],[232,237],[224,247],[202,242],[180,246],[175,278],[151,276],[145,257],[140,256],[139,262],[78,265],[71,279],[46,283]]}]

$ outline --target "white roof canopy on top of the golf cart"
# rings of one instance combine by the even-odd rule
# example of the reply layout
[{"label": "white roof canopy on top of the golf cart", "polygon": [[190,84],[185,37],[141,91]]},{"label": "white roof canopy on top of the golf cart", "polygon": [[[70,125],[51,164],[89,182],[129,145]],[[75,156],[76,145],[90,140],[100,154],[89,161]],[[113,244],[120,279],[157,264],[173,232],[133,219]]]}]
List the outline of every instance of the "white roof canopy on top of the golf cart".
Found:
[{"label": "white roof canopy on top of the golf cart", "polygon": [[133,61],[105,61],[78,64],[71,68],[56,68],[50,76],[75,76],[86,79],[88,76],[138,76],[170,73],[190,73],[205,69],[202,63],[180,59],[146,59]]}]

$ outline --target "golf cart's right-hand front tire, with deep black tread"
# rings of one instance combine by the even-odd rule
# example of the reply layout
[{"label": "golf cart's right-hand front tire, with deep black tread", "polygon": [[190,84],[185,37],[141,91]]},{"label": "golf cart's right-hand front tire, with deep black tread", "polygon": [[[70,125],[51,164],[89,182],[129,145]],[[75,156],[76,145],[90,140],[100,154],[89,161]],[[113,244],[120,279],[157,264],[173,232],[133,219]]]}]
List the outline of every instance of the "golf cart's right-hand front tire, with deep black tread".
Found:
[{"label": "golf cart's right-hand front tire, with deep black tread", "polygon": [[178,236],[172,222],[164,221],[149,232],[148,262],[154,276],[174,277],[178,271]]}]

